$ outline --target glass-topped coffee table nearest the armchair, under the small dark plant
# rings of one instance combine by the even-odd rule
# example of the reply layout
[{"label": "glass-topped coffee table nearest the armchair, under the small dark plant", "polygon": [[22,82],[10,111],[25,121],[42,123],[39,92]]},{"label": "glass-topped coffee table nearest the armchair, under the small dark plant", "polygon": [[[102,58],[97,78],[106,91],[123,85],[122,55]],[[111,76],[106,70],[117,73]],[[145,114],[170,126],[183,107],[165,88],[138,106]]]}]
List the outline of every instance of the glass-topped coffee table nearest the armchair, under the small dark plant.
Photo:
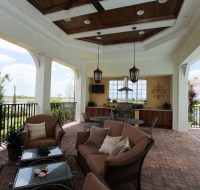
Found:
[{"label": "glass-topped coffee table nearest the armchair, under the small dark plant", "polygon": [[64,160],[64,154],[60,147],[52,146],[49,147],[50,153],[48,155],[38,154],[38,149],[24,149],[22,151],[22,156],[19,158],[19,167],[26,166],[34,161],[55,159],[58,161]]}]

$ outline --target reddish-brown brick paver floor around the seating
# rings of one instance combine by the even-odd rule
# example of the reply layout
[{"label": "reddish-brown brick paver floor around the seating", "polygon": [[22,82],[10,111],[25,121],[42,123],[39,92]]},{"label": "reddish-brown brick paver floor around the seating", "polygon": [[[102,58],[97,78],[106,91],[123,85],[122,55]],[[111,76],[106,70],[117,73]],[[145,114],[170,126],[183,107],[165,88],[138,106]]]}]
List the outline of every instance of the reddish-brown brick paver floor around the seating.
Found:
[{"label": "reddish-brown brick paver floor around the seating", "polygon": [[[66,155],[76,154],[76,133],[83,131],[83,124],[71,123],[64,130],[61,147]],[[200,190],[200,130],[155,128],[153,137],[155,144],[142,168],[142,190]],[[1,147],[0,165],[5,163],[7,151]]]}]

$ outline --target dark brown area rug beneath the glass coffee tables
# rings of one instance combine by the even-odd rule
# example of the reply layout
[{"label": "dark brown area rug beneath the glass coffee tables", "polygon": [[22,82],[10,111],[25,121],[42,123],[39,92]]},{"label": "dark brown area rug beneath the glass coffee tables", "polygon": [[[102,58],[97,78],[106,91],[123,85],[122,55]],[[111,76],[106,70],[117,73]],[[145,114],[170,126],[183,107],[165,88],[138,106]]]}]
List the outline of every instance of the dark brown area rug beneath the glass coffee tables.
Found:
[{"label": "dark brown area rug beneath the glass coffee tables", "polygon": [[[77,164],[76,156],[69,156],[67,163],[69,164],[71,171],[75,171],[75,189],[82,190],[85,175],[81,168]],[[8,190],[8,184],[14,182],[16,176],[16,165],[2,165],[0,168],[0,190]],[[58,190],[58,189],[57,189]]]}]

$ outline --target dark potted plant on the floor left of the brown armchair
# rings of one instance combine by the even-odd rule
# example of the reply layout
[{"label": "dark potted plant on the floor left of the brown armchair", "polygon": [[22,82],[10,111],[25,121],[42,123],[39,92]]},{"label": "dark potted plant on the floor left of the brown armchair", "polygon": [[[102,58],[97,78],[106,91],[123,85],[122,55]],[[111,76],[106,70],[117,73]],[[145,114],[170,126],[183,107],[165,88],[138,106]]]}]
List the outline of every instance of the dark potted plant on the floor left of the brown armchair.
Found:
[{"label": "dark potted plant on the floor left of the brown armchair", "polygon": [[21,142],[20,142],[20,131],[10,129],[5,137],[5,144],[7,145],[8,158],[11,161],[17,160],[21,156]]}]

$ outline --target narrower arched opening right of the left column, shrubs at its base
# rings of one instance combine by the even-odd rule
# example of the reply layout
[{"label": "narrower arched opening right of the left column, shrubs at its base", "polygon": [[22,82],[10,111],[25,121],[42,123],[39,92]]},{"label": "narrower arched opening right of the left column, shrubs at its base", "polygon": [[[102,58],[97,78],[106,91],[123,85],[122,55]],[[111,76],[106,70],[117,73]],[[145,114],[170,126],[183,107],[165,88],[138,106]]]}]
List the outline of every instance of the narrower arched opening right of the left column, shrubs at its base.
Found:
[{"label": "narrower arched opening right of the left column, shrubs at its base", "polygon": [[75,120],[75,73],[69,67],[52,62],[50,113],[59,118],[62,125]]}]

